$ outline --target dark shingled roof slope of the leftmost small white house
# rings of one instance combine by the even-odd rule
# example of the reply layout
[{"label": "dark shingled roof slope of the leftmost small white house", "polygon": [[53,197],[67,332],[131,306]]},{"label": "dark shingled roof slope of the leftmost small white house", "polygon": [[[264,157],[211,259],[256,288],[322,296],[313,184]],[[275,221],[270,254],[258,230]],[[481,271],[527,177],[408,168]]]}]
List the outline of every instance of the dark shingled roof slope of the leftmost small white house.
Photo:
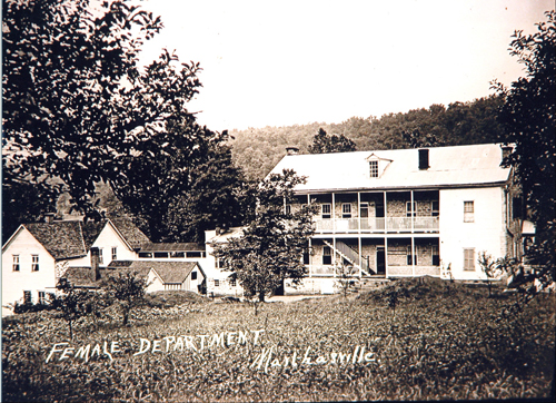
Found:
[{"label": "dark shingled roof slope of the leftmost small white house", "polygon": [[81,222],[23,224],[57,261],[87,255]]}]

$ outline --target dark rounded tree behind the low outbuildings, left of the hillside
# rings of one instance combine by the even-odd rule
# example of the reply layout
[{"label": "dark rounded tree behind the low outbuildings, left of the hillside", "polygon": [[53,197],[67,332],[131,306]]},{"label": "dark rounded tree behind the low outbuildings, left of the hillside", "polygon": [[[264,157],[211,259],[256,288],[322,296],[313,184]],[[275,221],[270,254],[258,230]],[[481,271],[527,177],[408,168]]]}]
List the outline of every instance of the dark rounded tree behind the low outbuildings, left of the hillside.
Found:
[{"label": "dark rounded tree behind the low outbuildings, left of the hillside", "polygon": [[186,115],[119,157],[125,175],[110,183],[152,242],[203,242],[206,229],[242,222],[244,181],[226,141]]}]

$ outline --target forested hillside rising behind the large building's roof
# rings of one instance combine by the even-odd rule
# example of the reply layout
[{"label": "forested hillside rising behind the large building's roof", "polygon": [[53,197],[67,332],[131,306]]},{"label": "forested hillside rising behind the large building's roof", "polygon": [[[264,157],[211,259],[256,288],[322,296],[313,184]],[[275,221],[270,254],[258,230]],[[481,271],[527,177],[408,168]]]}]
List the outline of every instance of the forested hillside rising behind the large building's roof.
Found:
[{"label": "forested hillside rising behind the large building's roof", "polygon": [[496,120],[502,106],[498,96],[471,102],[431,105],[406,114],[389,114],[380,118],[353,117],[340,124],[312,122],[286,127],[234,130],[231,140],[236,165],[250,179],[264,178],[284,157],[287,146],[307,153],[319,128],[328,134],[344,135],[355,141],[358,150],[408,148],[404,134],[434,137],[437,144],[455,146],[498,141],[502,129]]}]

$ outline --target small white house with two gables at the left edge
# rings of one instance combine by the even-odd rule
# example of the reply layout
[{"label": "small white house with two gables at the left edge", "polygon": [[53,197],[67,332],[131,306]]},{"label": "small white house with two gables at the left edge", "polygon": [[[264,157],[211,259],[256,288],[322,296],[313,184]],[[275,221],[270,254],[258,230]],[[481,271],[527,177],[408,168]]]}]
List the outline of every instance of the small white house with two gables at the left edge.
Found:
[{"label": "small white house with two gables at the left edge", "polygon": [[127,218],[22,224],[2,247],[2,314],[8,304],[43,301],[69,267],[90,268],[91,248],[106,267],[116,258],[136,259],[145,243],[149,238]]}]

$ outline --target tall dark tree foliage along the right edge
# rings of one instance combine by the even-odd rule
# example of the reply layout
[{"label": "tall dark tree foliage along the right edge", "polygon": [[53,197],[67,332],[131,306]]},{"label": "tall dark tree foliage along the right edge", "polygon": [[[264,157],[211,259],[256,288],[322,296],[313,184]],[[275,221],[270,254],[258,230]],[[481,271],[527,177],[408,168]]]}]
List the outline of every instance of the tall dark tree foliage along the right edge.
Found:
[{"label": "tall dark tree foliage along the right edge", "polygon": [[515,146],[504,164],[515,168],[536,225],[535,244],[527,257],[538,268],[535,278],[542,288],[556,278],[556,12],[548,11],[546,17],[537,32],[516,31],[513,36],[510,55],[525,66],[526,77],[510,88],[495,82],[504,98],[500,121],[505,135],[500,138]]}]

